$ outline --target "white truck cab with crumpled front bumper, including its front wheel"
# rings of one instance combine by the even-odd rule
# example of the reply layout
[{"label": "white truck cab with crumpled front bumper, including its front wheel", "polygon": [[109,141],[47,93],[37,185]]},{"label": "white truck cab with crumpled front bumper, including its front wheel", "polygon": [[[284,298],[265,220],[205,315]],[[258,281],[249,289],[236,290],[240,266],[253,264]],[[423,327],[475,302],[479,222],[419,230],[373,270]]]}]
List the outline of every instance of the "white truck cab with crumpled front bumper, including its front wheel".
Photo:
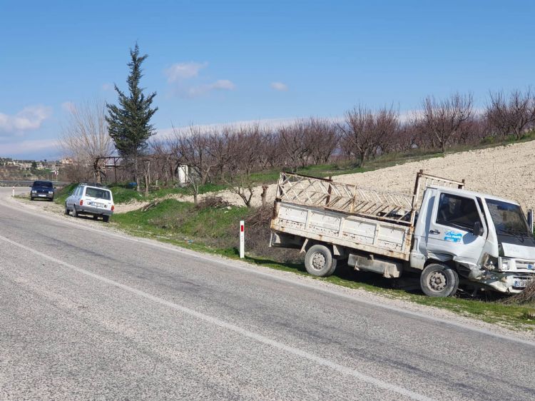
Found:
[{"label": "white truck cab with crumpled front bumper, including its front wheel", "polygon": [[453,290],[455,275],[474,288],[519,293],[535,275],[535,238],[516,202],[429,186],[414,227],[410,267],[423,270],[428,295]]}]

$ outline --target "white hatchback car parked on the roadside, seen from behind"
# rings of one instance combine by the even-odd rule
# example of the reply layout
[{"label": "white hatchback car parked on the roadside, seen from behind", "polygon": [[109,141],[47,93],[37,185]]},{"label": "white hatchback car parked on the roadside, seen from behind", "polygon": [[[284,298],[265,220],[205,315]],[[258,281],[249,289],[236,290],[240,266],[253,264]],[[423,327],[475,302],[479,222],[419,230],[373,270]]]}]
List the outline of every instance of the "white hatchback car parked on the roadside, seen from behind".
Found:
[{"label": "white hatchback car parked on the roadside, seen from behind", "polygon": [[113,196],[108,188],[101,186],[80,184],[65,201],[65,214],[71,211],[73,217],[78,215],[93,215],[96,220],[99,216],[108,222],[113,215]]}]

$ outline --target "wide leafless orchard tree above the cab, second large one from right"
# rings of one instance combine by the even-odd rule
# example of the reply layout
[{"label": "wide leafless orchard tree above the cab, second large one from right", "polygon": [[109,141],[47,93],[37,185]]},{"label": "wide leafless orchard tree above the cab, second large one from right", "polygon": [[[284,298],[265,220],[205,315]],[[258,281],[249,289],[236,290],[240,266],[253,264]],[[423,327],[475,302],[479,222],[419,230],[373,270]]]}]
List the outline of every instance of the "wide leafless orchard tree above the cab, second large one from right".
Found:
[{"label": "wide leafless orchard tree above the cab, second large one from right", "polygon": [[422,133],[432,136],[432,143],[444,153],[448,144],[458,136],[472,116],[472,104],[472,94],[454,93],[442,101],[427,96],[423,101],[422,115],[417,118],[417,125]]}]

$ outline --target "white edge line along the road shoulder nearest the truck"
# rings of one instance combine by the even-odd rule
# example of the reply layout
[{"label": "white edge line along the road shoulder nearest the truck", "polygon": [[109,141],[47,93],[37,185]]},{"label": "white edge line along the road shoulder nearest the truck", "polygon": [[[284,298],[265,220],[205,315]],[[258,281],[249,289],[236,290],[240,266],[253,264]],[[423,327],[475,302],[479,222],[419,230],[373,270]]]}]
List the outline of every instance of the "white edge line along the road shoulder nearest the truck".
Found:
[{"label": "white edge line along the road shoulder nearest the truck", "polygon": [[[193,256],[193,257],[198,258],[198,259],[208,260],[211,263],[218,263],[219,265],[224,265],[225,267],[231,268],[233,270],[241,270],[241,271],[246,272],[246,273],[260,275],[260,276],[263,276],[264,278],[269,278],[270,280],[280,280],[280,281],[282,281],[284,283],[288,283],[288,284],[291,284],[291,285],[298,285],[300,287],[309,288],[310,290],[320,291],[322,293],[328,293],[330,295],[335,295],[335,296],[340,297],[340,298],[345,298],[347,300],[352,300],[353,302],[356,302],[356,303],[362,303],[362,304],[365,304],[365,305],[370,305],[370,306],[372,306],[374,308],[382,308],[382,309],[385,309],[385,310],[392,310],[392,312],[399,313],[401,315],[409,315],[409,316],[412,316],[414,318],[430,320],[430,321],[433,321],[433,322],[442,323],[443,325],[449,325],[449,326],[453,326],[453,327],[457,327],[457,328],[462,328],[464,330],[469,330],[469,331],[472,331],[474,333],[480,333],[482,335],[489,335],[491,337],[496,337],[496,338],[499,338],[501,340],[517,342],[519,344],[530,345],[531,347],[535,347],[535,342],[534,341],[524,340],[522,338],[514,337],[514,333],[512,333],[512,332],[511,332],[511,335],[503,335],[503,334],[499,334],[499,333],[493,333],[493,332],[491,332],[489,330],[485,330],[485,329],[481,329],[481,328],[475,328],[475,327],[473,327],[471,325],[467,325],[467,324],[464,324],[464,323],[452,322],[452,320],[447,320],[447,319],[444,319],[444,318],[437,318],[435,316],[425,315],[424,313],[413,312],[412,310],[404,310],[402,308],[398,308],[398,307],[392,306],[392,305],[378,304],[376,301],[364,300],[362,298],[356,298],[354,295],[347,294],[347,293],[342,293],[342,292],[340,292],[338,290],[334,290],[334,289],[330,289],[330,288],[323,288],[323,287],[320,287],[320,286],[315,285],[313,283],[303,283],[302,281],[297,281],[294,278],[282,277],[280,275],[273,275],[269,271],[256,270],[256,269],[258,269],[257,266],[250,265],[250,264],[248,264],[246,262],[242,262],[242,261],[239,261],[239,260],[226,261],[226,260],[222,260],[221,258],[216,258],[214,256],[204,255],[203,253],[195,252],[194,250],[180,248],[179,246],[169,245],[169,244],[165,244],[165,243],[158,243],[158,242],[156,242],[156,240],[148,240],[146,238],[134,238],[134,237],[128,236],[127,234],[111,233],[108,230],[97,229],[97,228],[89,227],[87,225],[79,225],[79,224],[76,224],[76,223],[72,223],[71,221],[66,221],[66,218],[58,218],[56,216],[43,215],[43,214],[38,213],[38,212],[36,212],[34,210],[28,210],[27,208],[25,208],[26,205],[24,205],[24,203],[17,202],[16,200],[11,200],[11,198],[7,198],[7,199],[4,199],[4,200],[6,200],[8,202],[11,201],[12,203],[16,203],[16,206],[15,205],[4,204],[4,206],[6,206],[7,208],[11,208],[11,209],[14,209],[14,210],[19,210],[19,211],[21,211],[23,213],[27,213],[27,214],[30,214],[30,215],[38,215],[40,218],[44,218],[46,220],[51,220],[51,221],[54,221],[55,223],[61,223],[62,225],[70,225],[71,227],[74,227],[77,230],[93,231],[95,233],[98,233],[99,235],[107,235],[108,237],[116,238],[118,240],[128,240],[128,241],[131,241],[133,243],[142,243],[144,245],[151,246],[153,248],[160,248],[160,249],[163,249],[163,250],[168,250],[168,251],[173,252],[173,253]],[[253,267],[254,270],[251,269],[251,267]]]}]

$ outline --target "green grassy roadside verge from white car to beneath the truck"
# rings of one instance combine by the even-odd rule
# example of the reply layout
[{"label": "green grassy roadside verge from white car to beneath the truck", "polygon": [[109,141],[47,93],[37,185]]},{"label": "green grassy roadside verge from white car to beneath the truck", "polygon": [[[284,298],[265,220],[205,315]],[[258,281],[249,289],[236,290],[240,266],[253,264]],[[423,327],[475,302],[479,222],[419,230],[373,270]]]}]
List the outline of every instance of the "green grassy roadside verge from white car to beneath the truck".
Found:
[{"label": "green grassy roadside verge from white car to beneath the truck", "polygon": [[[200,252],[238,259],[238,221],[245,220],[252,210],[243,207],[197,209],[192,203],[174,199],[143,212],[134,210],[113,215],[113,225],[131,235],[153,238],[165,243]],[[267,248],[267,238],[265,239]],[[263,255],[246,255],[246,261],[265,268],[307,275],[301,262],[280,262]],[[312,277],[312,276],[310,276]],[[450,310],[459,315],[497,323],[507,328],[535,330],[535,305],[504,305],[499,300],[469,298],[429,298],[414,290],[392,288],[396,280],[382,278],[374,273],[356,272],[340,266],[329,278],[315,278],[346,288],[362,289],[388,298],[396,298]],[[417,279],[416,279],[417,281]]]}]

